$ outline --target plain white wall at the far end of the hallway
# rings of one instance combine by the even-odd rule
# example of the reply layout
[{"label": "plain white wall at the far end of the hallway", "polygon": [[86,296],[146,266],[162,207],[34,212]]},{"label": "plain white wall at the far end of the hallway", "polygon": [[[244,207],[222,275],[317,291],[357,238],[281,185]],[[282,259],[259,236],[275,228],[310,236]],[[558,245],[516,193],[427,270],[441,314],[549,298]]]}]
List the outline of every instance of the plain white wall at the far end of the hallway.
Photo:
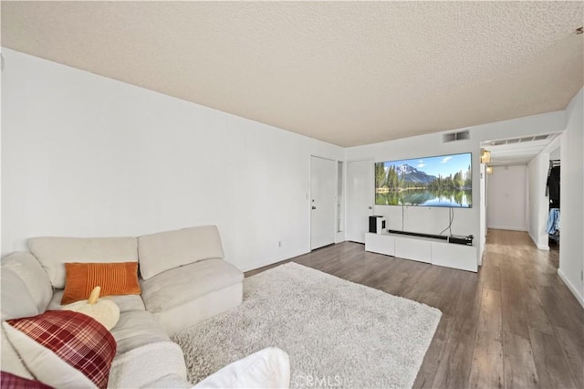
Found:
[{"label": "plain white wall at the far end of the hallway", "polygon": [[494,166],[487,188],[488,228],[527,231],[527,166]]}]

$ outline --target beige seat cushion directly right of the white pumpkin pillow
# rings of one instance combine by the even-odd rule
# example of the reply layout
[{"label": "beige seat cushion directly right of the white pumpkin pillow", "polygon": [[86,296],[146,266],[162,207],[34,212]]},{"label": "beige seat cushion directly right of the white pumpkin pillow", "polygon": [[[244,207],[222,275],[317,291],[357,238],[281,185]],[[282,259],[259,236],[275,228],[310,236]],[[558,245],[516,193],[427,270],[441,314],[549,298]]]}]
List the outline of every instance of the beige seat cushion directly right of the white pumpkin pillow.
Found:
[{"label": "beige seat cushion directly right of the white pumpkin pillow", "polygon": [[171,341],[158,321],[146,310],[121,313],[118,324],[111,329],[111,334],[118,342],[119,354],[145,344]]}]

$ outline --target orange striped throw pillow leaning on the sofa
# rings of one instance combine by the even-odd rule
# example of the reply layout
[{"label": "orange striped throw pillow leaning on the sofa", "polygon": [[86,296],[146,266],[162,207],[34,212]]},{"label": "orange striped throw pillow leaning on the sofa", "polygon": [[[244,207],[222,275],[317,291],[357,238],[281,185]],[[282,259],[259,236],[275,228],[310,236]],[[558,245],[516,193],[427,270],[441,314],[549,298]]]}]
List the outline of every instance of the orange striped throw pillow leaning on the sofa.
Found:
[{"label": "orange striped throw pillow leaning on the sofa", "polygon": [[89,299],[91,290],[101,287],[100,296],[140,294],[138,262],[66,263],[65,291],[61,304]]}]

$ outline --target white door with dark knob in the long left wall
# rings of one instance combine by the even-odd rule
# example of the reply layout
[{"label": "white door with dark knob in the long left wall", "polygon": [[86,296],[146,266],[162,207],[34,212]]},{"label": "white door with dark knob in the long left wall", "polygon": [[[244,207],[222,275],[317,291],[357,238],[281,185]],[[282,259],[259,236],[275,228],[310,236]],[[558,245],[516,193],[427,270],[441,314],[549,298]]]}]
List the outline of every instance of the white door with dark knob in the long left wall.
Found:
[{"label": "white door with dark knob in the long left wall", "polygon": [[335,243],[337,163],[310,158],[310,249]]}]

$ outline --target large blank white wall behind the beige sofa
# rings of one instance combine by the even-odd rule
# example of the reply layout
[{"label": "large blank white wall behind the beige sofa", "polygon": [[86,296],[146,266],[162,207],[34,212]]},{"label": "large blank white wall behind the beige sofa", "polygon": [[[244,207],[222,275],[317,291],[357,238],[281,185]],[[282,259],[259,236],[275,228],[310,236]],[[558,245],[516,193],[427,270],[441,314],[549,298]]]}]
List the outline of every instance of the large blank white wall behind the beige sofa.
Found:
[{"label": "large blank white wall behind the beige sofa", "polygon": [[[248,270],[310,248],[325,142],[4,49],[2,253],[215,224]],[[278,247],[278,241],[282,247]]]}]

